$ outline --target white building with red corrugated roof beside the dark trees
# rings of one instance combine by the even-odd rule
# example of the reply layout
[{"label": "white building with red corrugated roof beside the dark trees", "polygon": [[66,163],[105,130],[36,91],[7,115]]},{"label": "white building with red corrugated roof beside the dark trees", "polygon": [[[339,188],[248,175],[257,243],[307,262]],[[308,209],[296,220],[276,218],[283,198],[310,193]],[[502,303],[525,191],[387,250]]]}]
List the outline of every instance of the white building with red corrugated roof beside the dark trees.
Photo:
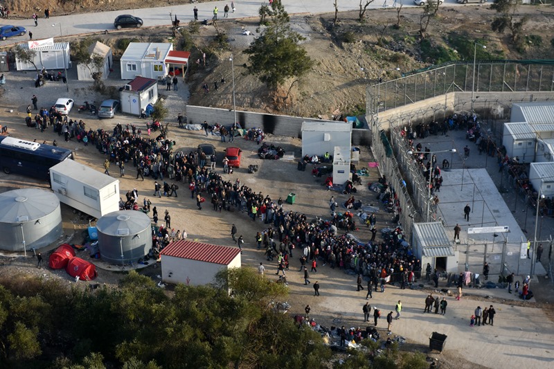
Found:
[{"label": "white building with red corrugated roof beside the dark trees", "polygon": [[208,285],[223,269],[240,268],[238,247],[179,240],[160,253],[161,279],[166,283]]}]

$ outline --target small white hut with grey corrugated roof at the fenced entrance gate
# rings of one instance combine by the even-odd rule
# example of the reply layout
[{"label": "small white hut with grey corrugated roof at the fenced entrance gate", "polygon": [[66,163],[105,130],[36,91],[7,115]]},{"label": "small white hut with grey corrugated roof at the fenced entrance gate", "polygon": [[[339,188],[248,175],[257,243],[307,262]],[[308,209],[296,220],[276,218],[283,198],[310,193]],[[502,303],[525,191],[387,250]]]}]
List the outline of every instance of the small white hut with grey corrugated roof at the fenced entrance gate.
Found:
[{"label": "small white hut with grey corrugated roof at the fenced entrance gate", "polygon": [[413,254],[421,260],[423,271],[431,268],[448,273],[458,272],[458,251],[454,251],[443,224],[440,222],[414,223]]}]

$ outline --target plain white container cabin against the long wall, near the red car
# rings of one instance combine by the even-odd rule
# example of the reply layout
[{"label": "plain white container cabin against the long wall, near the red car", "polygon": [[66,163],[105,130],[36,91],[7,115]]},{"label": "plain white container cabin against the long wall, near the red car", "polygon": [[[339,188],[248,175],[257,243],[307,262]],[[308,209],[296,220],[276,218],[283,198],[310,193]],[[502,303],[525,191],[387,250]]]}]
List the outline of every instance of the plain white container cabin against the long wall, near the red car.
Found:
[{"label": "plain white container cabin against the long wall, near the red car", "polygon": [[334,152],[334,147],[348,147],[352,143],[352,124],[340,121],[302,123],[302,156]]}]

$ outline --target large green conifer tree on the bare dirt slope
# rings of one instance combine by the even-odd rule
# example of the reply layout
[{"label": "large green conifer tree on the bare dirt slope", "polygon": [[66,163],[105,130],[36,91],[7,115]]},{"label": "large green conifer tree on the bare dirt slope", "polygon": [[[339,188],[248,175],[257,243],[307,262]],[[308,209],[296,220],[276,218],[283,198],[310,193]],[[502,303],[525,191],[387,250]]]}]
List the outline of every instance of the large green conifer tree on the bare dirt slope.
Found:
[{"label": "large green conifer tree on the bare dirt slope", "polygon": [[244,53],[249,55],[247,70],[275,92],[287,78],[299,78],[312,68],[313,61],[298,43],[304,39],[289,25],[289,15],[280,2],[271,4],[269,26]]}]

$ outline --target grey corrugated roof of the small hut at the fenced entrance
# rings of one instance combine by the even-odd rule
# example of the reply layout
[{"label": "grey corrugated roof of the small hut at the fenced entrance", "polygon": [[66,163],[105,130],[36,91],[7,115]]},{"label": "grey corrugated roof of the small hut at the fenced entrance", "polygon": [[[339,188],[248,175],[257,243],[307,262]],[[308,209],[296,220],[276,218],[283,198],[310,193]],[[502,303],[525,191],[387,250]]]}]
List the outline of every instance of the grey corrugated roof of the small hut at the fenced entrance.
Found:
[{"label": "grey corrugated roof of the small hut at the fenced entrance", "polygon": [[454,256],[450,239],[440,222],[414,223],[413,231],[418,237],[423,255],[432,258]]}]

